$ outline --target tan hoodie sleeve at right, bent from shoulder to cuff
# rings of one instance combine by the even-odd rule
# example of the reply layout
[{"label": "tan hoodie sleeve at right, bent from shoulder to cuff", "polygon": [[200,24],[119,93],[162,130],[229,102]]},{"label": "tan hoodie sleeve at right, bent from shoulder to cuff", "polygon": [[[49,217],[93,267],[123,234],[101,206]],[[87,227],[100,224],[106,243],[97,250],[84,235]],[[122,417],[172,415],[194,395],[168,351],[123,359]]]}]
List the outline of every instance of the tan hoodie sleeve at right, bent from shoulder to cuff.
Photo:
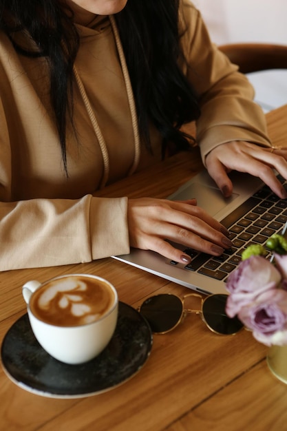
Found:
[{"label": "tan hoodie sleeve at right, bent from shoulder to cuff", "polygon": [[270,146],[261,107],[238,67],[211,43],[200,12],[182,0],[180,25],[186,64],[182,70],[198,93],[201,116],[196,122],[202,160],[211,149],[231,140]]}]

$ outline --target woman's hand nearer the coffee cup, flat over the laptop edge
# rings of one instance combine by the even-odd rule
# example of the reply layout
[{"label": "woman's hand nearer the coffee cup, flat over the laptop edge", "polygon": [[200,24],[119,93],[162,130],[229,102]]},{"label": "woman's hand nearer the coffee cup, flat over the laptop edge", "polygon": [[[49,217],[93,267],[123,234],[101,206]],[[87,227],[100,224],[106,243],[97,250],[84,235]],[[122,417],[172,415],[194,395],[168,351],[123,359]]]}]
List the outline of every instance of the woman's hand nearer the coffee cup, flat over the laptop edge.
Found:
[{"label": "woman's hand nearer the coffee cup, flat over the laptop edge", "polygon": [[184,264],[191,261],[189,255],[167,240],[215,256],[232,246],[226,228],[198,207],[195,199],[129,199],[128,224],[132,247],[156,251]]}]

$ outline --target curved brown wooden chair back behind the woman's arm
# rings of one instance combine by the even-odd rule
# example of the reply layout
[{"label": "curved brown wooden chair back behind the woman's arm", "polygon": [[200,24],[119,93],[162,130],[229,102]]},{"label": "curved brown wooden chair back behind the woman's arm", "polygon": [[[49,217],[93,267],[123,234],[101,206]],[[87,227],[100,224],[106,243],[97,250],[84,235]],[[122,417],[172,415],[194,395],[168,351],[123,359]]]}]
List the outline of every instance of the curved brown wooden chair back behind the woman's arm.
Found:
[{"label": "curved brown wooden chair back behind the woman's arm", "polygon": [[287,69],[287,45],[230,43],[219,48],[244,74],[260,70]]}]

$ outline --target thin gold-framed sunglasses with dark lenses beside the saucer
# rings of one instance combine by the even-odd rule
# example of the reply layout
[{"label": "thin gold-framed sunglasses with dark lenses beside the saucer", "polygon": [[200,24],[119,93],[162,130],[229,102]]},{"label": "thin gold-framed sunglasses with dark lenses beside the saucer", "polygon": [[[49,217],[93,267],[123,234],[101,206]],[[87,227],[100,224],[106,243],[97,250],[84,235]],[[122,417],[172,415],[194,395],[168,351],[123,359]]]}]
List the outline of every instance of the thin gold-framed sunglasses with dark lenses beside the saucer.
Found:
[{"label": "thin gold-framed sunglasses with dark lenses beside the saucer", "polygon": [[[198,297],[201,299],[200,310],[184,308],[184,302],[188,297]],[[181,299],[177,295],[162,293],[147,298],[138,308],[138,311],[145,317],[152,332],[155,334],[168,333],[170,330],[176,328],[188,313],[194,313],[200,315],[206,326],[214,333],[234,335],[244,325],[237,317],[231,319],[226,315],[225,306],[227,297],[228,295],[215,294],[203,298],[197,293],[189,293]]]}]

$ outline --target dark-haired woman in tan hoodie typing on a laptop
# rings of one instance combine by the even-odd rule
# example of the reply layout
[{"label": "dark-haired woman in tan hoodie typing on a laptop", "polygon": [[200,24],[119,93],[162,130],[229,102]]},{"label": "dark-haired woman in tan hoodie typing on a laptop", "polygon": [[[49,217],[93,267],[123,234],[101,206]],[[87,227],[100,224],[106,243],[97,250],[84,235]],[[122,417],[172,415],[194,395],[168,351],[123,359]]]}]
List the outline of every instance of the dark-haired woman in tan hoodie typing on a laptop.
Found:
[{"label": "dark-haired woman in tan hoodie typing on a laptop", "polygon": [[260,176],[281,198],[286,153],[237,67],[187,0],[0,1],[0,270],[89,262],[166,240],[220,255],[228,232],[194,200],[93,193],[192,138],[229,196],[228,171]]}]

